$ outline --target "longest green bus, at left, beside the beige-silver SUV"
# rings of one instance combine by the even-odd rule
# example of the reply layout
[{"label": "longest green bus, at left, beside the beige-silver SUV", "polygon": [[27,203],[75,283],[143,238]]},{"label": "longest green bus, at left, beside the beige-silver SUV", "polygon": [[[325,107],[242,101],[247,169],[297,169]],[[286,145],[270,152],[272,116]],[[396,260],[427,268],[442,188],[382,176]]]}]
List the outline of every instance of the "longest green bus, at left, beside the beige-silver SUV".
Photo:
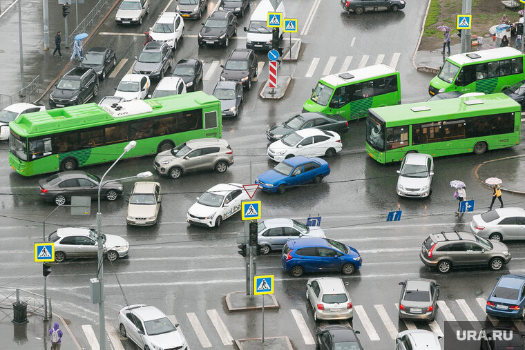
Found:
[{"label": "longest green bus, at left, beside the beige-silver SUV", "polygon": [[221,137],[220,101],[200,91],[81,104],[20,115],[9,123],[9,165],[24,176],[69,171],[124,157],[154,155],[190,139]]}]

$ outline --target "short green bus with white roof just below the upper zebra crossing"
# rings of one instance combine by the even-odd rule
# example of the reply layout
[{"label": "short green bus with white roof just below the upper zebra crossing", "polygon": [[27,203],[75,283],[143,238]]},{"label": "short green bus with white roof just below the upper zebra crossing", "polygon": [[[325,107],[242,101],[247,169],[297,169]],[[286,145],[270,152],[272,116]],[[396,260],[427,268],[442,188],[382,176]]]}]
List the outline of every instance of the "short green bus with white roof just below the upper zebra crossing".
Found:
[{"label": "short green bus with white roof just below the upper zebra crossing", "polygon": [[345,119],[366,117],[368,108],[401,104],[399,72],[376,64],[321,78],[303,111],[341,115]]}]

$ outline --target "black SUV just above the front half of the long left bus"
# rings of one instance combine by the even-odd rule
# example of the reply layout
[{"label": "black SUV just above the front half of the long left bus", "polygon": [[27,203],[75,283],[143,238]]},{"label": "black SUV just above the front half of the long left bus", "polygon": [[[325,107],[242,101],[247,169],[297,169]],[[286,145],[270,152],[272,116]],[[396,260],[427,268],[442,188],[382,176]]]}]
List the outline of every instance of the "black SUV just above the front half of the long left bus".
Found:
[{"label": "black SUV just above the front half of the long left bus", "polygon": [[50,108],[84,104],[98,95],[98,77],[93,68],[76,67],[61,77],[49,95]]}]

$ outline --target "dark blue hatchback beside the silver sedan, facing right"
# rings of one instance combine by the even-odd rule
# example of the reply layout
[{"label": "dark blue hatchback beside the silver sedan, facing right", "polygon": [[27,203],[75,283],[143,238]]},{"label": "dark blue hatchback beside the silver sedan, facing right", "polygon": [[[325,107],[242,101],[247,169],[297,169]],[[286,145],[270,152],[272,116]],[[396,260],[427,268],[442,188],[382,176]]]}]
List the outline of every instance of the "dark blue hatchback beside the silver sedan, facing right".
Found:
[{"label": "dark blue hatchback beside the silver sedan, facing right", "polygon": [[294,277],[305,272],[341,271],[351,275],[361,268],[361,255],[356,249],[328,238],[290,240],[283,247],[283,267]]}]

